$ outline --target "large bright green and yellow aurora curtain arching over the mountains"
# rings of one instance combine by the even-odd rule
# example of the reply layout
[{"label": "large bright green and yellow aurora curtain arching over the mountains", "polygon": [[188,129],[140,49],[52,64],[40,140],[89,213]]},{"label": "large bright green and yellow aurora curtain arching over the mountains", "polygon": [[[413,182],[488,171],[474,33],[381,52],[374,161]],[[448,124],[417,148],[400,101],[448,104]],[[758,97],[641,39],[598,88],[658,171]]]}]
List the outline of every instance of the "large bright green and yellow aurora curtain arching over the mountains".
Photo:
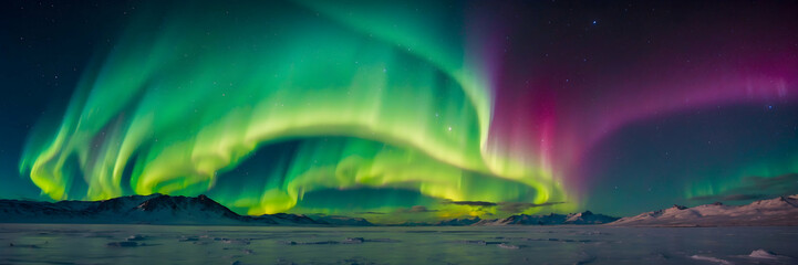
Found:
[{"label": "large bright green and yellow aurora curtain arching over the mountains", "polygon": [[[452,31],[464,18],[338,7],[211,4],[132,20],[84,72],[61,124],[34,131],[21,172],[54,200],[207,193],[248,214],[302,209],[305,193],[330,189],[568,201],[552,172],[487,146],[490,76],[469,41],[479,35]],[[276,167],[227,182],[284,141],[298,148],[271,156]],[[495,213],[436,205],[441,218]]]}]

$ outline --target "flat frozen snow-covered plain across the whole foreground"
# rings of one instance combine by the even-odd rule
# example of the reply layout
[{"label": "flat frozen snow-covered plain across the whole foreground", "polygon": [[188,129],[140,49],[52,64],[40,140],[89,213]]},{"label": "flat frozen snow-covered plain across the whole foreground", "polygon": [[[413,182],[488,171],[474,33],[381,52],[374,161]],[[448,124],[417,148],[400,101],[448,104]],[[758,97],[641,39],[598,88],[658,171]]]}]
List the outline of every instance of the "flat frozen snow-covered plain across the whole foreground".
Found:
[{"label": "flat frozen snow-covered plain across the whole foreground", "polygon": [[0,264],[797,264],[798,227],[0,224]]}]

